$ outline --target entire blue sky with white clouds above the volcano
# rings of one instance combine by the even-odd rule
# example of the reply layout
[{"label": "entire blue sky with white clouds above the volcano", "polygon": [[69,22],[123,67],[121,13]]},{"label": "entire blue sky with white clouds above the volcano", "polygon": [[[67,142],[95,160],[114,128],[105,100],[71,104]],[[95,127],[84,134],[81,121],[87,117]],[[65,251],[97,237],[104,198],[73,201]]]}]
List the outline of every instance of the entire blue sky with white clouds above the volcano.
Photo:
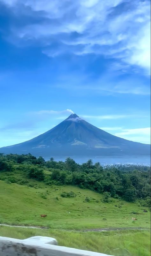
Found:
[{"label": "entire blue sky with white clouds above the volcano", "polygon": [[0,0],[0,91],[0,147],[72,112],[150,143],[150,1]]}]

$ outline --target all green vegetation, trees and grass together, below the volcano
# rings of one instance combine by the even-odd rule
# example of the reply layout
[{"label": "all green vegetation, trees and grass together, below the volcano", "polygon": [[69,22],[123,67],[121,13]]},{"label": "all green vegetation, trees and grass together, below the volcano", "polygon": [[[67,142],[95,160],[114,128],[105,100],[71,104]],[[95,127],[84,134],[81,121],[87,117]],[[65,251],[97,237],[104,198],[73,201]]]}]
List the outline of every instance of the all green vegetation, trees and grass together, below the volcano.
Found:
[{"label": "all green vegetation, trees and grass together, below the volcano", "polygon": [[149,167],[103,168],[91,159],[79,165],[71,158],[56,162],[53,157],[45,161],[31,154],[0,154],[0,201],[0,223],[50,228],[0,226],[0,236],[50,236],[59,245],[115,256],[150,255],[149,231],[79,232],[150,228]]}]

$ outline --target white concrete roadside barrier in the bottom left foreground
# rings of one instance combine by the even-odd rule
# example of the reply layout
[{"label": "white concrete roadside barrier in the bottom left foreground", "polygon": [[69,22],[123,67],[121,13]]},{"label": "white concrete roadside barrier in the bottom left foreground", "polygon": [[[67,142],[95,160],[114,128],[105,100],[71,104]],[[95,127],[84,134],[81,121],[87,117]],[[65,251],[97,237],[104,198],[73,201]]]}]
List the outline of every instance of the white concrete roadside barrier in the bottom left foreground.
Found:
[{"label": "white concrete roadside barrier in the bottom left foreground", "polygon": [[30,237],[24,240],[0,237],[0,256],[109,256],[98,252],[83,251],[58,246],[52,237]]}]

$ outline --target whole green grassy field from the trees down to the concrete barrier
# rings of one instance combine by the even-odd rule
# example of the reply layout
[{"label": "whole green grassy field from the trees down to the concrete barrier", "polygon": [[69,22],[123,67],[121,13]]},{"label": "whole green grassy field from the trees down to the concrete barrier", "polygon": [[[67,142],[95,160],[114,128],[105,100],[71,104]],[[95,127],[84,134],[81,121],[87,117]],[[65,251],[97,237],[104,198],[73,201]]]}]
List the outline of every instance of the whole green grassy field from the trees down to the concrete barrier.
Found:
[{"label": "whole green grassy field from the trees down to the concrete barrier", "polygon": [[[9,173],[2,172],[1,179],[3,177],[5,180],[0,180],[0,223],[49,229],[0,226],[0,236],[19,239],[50,236],[61,246],[115,256],[150,256],[150,231],[145,230],[150,228],[150,211],[139,202],[112,198],[112,202],[104,203],[102,194],[97,192],[72,185],[46,185],[18,171],[13,177],[28,179],[28,186],[10,183]],[[76,197],[61,196],[62,192],[70,191]],[[143,212],[145,209],[147,212]],[[41,218],[40,214],[47,214],[47,217]],[[138,220],[132,221],[132,217]],[[122,227],[127,230],[111,230]],[[139,227],[142,230],[128,230]],[[110,231],[92,232],[101,228]]]}]

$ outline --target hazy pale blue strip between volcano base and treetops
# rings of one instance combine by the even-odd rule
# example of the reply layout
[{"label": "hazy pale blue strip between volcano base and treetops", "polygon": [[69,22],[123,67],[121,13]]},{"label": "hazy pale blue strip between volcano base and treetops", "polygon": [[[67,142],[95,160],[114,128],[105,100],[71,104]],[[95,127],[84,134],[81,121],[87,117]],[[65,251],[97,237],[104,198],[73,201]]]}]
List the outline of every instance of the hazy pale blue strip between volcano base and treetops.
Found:
[{"label": "hazy pale blue strip between volcano base and treetops", "polygon": [[[77,163],[82,164],[84,162],[87,162],[88,159],[92,159],[93,163],[100,162],[103,166],[107,164],[135,164],[135,165],[146,165],[150,166],[150,156],[84,156],[84,157],[78,157],[73,156],[72,157]],[[66,157],[54,157],[55,161],[65,161]],[[46,159],[49,160],[49,159]]]}]

